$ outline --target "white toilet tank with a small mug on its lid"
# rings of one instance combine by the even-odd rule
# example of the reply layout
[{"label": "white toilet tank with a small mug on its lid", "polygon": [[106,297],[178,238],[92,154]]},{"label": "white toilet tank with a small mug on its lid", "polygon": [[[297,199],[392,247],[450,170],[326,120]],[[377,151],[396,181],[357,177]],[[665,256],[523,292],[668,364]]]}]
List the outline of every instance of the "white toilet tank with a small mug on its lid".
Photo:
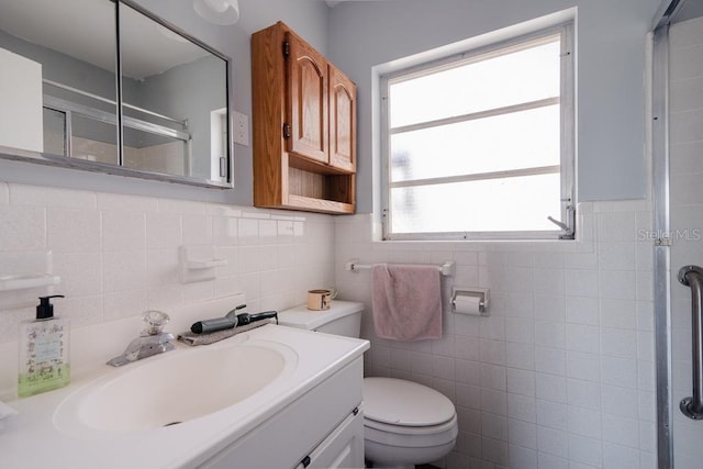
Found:
[{"label": "white toilet tank with a small mug on its lid", "polygon": [[278,323],[289,327],[359,337],[364,303],[333,300],[325,311],[311,311],[305,304],[279,311]]}]

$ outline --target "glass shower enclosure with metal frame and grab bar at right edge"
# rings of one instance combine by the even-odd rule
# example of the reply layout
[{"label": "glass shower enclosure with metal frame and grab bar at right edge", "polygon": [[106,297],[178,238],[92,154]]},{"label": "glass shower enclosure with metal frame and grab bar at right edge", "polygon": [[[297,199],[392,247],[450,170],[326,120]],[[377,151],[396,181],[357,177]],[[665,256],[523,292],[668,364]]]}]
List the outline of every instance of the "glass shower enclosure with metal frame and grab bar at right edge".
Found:
[{"label": "glass shower enclosure with metal frame and grab bar at right edge", "polygon": [[703,0],[667,0],[652,33],[659,469],[702,467]]}]

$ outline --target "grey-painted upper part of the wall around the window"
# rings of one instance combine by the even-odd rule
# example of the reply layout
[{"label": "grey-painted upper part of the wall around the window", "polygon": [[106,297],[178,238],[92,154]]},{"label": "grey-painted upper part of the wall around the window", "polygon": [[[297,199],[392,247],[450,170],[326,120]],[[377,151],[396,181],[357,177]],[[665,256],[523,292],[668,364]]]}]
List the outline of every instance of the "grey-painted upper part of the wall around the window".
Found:
[{"label": "grey-painted upper part of the wall around the window", "polygon": [[645,35],[658,0],[344,2],[332,10],[331,59],[359,92],[357,206],[370,212],[371,67],[578,7],[579,200],[646,197]]}]

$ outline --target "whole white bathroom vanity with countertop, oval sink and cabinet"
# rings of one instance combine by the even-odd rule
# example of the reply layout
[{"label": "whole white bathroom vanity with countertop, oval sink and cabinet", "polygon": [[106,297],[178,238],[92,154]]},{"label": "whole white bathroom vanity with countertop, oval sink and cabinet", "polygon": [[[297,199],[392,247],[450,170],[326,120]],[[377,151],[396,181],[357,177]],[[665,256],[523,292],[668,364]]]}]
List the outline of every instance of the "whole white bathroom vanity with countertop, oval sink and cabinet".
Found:
[{"label": "whole white bathroom vanity with countertop, oval sink and cabinet", "polygon": [[[2,467],[364,467],[368,347],[266,324],[121,368],[81,365],[67,388],[10,402]],[[113,348],[94,356],[104,364]]]}]

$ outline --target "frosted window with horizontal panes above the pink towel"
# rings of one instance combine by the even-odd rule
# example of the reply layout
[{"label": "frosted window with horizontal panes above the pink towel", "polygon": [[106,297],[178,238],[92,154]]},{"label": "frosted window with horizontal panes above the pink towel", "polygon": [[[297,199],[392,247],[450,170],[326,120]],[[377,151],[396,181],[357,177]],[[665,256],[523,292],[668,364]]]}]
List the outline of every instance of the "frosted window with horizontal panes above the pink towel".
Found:
[{"label": "frosted window with horizontal panes above the pink towel", "polygon": [[572,63],[566,24],[382,76],[384,237],[572,238]]}]

